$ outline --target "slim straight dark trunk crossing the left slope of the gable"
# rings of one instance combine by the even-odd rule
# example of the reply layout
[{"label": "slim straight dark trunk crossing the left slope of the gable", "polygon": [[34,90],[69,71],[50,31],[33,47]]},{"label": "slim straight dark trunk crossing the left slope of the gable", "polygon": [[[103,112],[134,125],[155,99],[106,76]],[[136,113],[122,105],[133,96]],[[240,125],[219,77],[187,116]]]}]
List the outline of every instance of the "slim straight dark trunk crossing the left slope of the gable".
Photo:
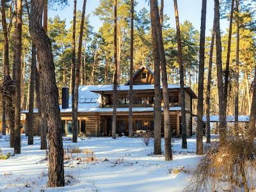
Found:
[{"label": "slim straight dark trunk crossing the left slope of the gable", "polygon": [[130,51],[130,90],[129,90],[129,137],[132,138],[132,106],[133,106],[133,19],[134,1],[131,0],[131,51]]}]

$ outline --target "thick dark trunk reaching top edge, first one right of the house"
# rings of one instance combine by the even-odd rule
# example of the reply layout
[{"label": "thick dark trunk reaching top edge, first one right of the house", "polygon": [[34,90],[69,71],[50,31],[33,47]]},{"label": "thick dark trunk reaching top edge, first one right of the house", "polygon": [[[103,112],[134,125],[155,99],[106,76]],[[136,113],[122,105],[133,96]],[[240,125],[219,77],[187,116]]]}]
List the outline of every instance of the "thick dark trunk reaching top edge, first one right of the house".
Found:
[{"label": "thick dark trunk reaching top edge, first one right of the house", "polygon": [[197,102],[197,127],[196,127],[196,154],[204,153],[203,146],[203,113],[204,113],[204,56],[205,56],[205,23],[207,0],[202,0],[199,74],[198,74],[198,102]]}]

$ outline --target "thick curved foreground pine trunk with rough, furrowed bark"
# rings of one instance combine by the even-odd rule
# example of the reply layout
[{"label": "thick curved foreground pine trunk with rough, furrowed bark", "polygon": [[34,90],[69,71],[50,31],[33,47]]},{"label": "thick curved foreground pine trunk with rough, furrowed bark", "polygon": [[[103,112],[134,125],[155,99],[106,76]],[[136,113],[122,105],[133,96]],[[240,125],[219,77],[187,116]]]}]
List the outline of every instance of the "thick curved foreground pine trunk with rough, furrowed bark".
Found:
[{"label": "thick curved foreground pine trunk with rough, furrowed bark", "polygon": [[31,0],[29,31],[38,49],[38,59],[42,65],[43,93],[45,95],[45,115],[49,129],[49,186],[64,186],[63,144],[61,137],[61,117],[58,102],[51,40],[42,28],[44,0]]}]

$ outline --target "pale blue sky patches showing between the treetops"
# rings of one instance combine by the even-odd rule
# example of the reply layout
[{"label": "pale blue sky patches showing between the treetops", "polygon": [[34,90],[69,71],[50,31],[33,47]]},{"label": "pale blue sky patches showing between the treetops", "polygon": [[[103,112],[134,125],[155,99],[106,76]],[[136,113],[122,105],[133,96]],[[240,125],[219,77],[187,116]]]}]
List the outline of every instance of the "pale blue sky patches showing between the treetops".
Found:
[{"label": "pale blue sky patches showing between the treetops", "polygon": [[[137,0],[138,5],[136,6],[136,11],[141,10],[145,7],[149,10],[148,3],[145,0]],[[87,0],[86,4],[86,15],[90,14],[90,23],[94,30],[97,31],[101,26],[102,22],[93,15],[93,11],[97,6],[99,6],[100,0]],[[83,7],[83,0],[77,0],[77,9],[81,10]],[[68,0],[68,6],[62,8],[61,10],[49,10],[49,17],[54,17],[54,15],[60,15],[61,19],[67,20],[67,28],[70,27],[70,21],[72,20],[74,8],[74,1]],[[179,17],[180,22],[184,20],[189,20],[193,23],[193,26],[200,30],[201,22],[201,8],[202,0],[178,0]],[[171,26],[175,26],[174,8],[173,0],[164,0],[164,14],[170,17]],[[207,19],[206,19],[206,35],[211,35],[212,22],[214,17],[214,0],[207,1]],[[227,20],[221,20],[221,29],[225,30],[228,26]]]}]

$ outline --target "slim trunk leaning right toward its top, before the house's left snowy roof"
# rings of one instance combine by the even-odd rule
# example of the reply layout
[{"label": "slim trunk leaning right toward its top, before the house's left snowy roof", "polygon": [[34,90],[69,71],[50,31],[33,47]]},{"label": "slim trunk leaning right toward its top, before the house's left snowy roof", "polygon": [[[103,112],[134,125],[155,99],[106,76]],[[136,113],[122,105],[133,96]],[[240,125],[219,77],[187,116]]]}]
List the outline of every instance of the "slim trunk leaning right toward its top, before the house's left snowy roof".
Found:
[{"label": "slim trunk leaning right toward its top, before the house's left snowy roof", "polygon": [[[80,69],[82,65],[82,42],[83,42],[83,33],[84,33],[84,14],[85,14],[85,7],[86,7],[86,0],[84,0],[83,4],[83,12],[82,12],[82,19],[81,19],[81,27],[80,27],[80,34],[79,34],[79,42],[78,42],[78,52],[77,52],[77,68],[76,68],[76,82],[75,82],[75,97],[74,97],[74,111],[73,113],[76,113],[76,119],[74,119],[77,122],[77,107],[78,107],[78,88],[80,84]],[[76,124],[76,127],[73,129],[73,142],[77,142],[77,131],[78,126]]]}]

